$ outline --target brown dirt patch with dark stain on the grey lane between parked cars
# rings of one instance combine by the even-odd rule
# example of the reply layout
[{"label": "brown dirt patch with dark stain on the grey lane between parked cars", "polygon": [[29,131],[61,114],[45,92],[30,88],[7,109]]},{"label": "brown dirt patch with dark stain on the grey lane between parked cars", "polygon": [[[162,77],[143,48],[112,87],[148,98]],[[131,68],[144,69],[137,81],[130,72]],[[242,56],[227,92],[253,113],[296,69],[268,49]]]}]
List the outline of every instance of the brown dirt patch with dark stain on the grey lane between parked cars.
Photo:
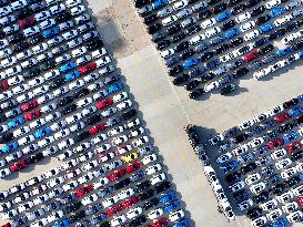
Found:
[{"label": "brown dirt patch with dark stain on the grey lane between parked cars", "polygon": [[115,0],[95,13],[104,42],[115,58],[123,58],[150,44],[130,1]]}]

